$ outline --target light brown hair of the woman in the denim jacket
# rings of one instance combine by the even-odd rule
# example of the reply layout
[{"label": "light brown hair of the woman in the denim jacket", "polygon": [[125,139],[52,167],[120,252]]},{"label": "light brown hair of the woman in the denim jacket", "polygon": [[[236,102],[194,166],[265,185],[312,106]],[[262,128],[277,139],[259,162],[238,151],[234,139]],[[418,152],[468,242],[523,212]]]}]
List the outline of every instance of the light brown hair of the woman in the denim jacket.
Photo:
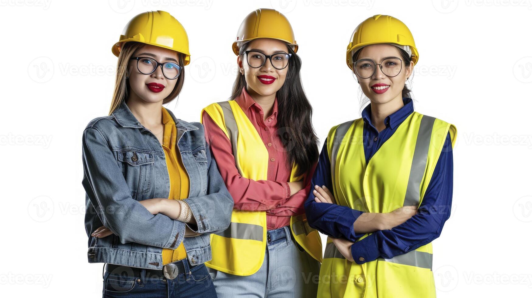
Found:
[{"label": "light brown hair of the woman in the denim jacket", "polygon": [[[123,101],[127,101],[128,90],[129,90],[129,80],[128,77],[128,64],[131,56],[138,48],[144,46],[143,43],[137,42],[127,42],[122,45],[120,49],[120,55],[118,56],[117,62],[117,77],[114,82],[114,92],[113,100],[111,101],[111,108],[109,109],[109,115],[111,115]],[[183,68],[184,64],[184,54],[178,53],[179,66],[181,67],[181,73],[177,78],[177,84],[173,88],[172,92],[163,100],[163,104],[169,103],[176,98],[181,89],[183,88],[183,82],[185,81],[185,69]]]}]

